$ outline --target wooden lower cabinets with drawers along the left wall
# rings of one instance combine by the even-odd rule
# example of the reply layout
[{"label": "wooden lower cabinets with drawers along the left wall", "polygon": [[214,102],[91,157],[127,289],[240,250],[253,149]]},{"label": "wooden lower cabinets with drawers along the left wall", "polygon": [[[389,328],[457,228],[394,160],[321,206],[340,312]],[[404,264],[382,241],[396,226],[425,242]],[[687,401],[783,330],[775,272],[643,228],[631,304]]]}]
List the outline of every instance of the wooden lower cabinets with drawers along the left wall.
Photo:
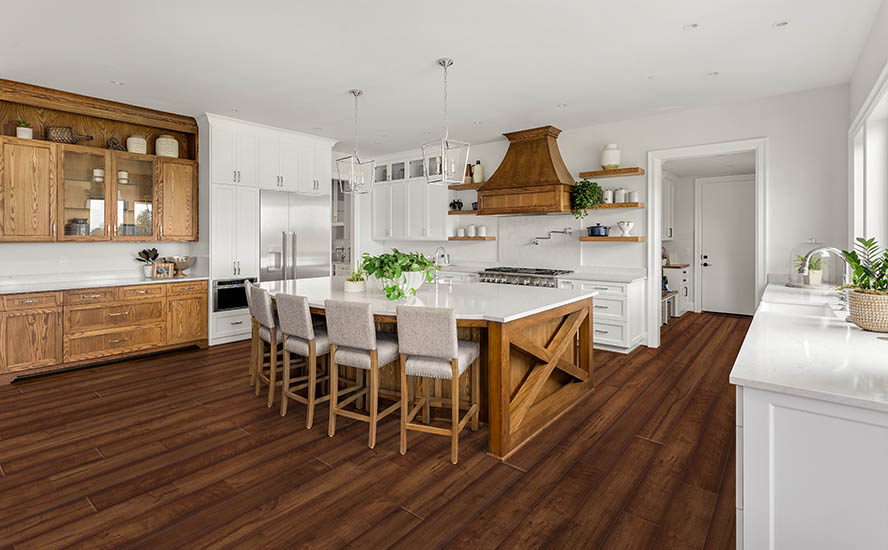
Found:
[{"label": "wooden lower cabinets with drawers along the left wall", "polygon": [[0,306],[4,379],[207,339],[206,281],[13,294]]}]

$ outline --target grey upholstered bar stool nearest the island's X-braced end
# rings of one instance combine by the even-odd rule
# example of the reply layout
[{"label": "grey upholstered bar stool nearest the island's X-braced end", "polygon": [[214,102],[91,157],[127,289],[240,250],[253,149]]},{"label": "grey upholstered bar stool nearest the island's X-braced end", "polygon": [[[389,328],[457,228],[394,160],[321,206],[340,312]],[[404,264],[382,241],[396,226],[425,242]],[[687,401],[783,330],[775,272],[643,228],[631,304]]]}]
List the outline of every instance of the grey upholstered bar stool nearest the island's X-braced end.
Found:
[{"label": "grey upholstered bar stool nearest the island's X-braced end", "polygon": [[[415,430],[450,436],[450,462],[459,459],[459,433],[469,419],[472,431],[478,429],[478,378],[481,347],[478,342],[457,339],[456,317],[452,309],[435,307],[398,306],[398,346],[401,359],[401,454],[407,452],[407,430]],[[466,403],[466,414],[460,420],[459,378],[472,367],[471,399]],[[408,412],[407,377],[422,379],[423,396],[415,399],[413,410]],[[429,379],[450,380],[450,399],[433,400],[429,395]],[[429,406],[450,405],[450,429],[428,425]],[[424,424],[413,419],[423,410]]]}]

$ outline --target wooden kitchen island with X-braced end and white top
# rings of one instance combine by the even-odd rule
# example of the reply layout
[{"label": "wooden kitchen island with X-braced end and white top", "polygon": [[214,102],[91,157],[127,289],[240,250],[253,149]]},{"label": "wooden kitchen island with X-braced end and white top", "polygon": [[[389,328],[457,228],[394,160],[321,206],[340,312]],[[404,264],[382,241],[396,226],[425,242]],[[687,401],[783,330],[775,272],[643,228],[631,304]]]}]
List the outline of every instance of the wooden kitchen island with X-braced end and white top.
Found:
[{"label": "wooden kitchen island with X-braced end and white top", "polygon": [[[489,451],[497,458],[507,457],[592,390],[595,291],[427,283],[415,298],[391,301],[370,283],[366,292],[344,292],[343,280],[319,277],[259,286],[272,295],[306,296],[315,314],[323,314],[328,299],[368,302],[383,331],[396,330],[398,305],[453,309],[459,337],[481,344],[481,417],[490,428]],[[380,377],[382,387],[391,390],[400,390],[398,380],[394,369]],[[446,395],[446,388],[439,390]]]}]

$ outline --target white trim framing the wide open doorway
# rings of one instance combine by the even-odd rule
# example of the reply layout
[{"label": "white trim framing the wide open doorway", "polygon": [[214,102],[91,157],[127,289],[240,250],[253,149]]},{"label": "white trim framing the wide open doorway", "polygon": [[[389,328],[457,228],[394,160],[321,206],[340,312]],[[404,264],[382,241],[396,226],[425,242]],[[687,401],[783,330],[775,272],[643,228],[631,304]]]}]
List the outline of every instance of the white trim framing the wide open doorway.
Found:
[{"label": "white trim framing the wide open doorway", "polygon": [[[648,152],[647,158],[647,345],[660,347],[660,280],[663,267],[660,250],[663,247],[663,163],[669,160],[711,157],[730,153],[755,152],[755,290],[756,302],[761,300],[767,284],[766,258],[766,189],[768,138],[753,138],[689,147],[675,147]],[[695,199],[696,202],[696,199]],[[696,239],[696,237],[695,237]],[[696,254],[696,251],[695,251]],[[696,284],[696,283],[695,283]],[[697,296],[694,296],[695,302]]]}]

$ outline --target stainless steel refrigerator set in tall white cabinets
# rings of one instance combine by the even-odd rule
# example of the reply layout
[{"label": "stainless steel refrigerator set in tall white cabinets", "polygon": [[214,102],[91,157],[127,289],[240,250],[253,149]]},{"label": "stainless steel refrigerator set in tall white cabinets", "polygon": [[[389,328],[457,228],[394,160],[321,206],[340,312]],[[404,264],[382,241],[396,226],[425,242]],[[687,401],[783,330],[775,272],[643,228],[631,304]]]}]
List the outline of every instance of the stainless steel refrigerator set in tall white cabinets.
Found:
[{"label": "stainless steel refrigerator set in tall white cabinets", "polygon": [[330,197],[261,191],[259,280],[330,275]]}]

